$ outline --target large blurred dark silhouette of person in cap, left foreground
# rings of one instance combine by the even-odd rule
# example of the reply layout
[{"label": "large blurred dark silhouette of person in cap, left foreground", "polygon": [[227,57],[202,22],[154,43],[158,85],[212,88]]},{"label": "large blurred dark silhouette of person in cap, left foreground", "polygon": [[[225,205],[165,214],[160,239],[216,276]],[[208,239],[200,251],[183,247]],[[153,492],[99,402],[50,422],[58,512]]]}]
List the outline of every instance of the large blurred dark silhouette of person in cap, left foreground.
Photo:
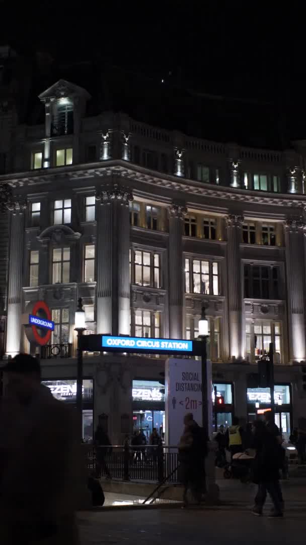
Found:
[{"label": "large blurred dark silhouette of person in cap, left foreground", "polygon": [[77,545],[74,514],[88,477],[77,415],[40,384],[36,358],[18,354],[3,371],[1,543]]}]

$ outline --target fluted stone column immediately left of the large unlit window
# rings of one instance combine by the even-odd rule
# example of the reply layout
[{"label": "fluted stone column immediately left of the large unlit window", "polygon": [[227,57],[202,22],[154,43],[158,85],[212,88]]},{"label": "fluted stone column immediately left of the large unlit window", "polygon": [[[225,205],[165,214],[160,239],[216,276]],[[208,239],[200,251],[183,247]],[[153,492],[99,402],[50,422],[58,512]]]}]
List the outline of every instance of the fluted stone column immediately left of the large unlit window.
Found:
[{"label": "fluted stone column immediately left of the large unlit window", "polygon": [[229,356],[241,359],[242,354],[242,286],[239,245],[243,216],[230,214],[227,225],[227,266],[228,266],[228,314],[229,314]]}]

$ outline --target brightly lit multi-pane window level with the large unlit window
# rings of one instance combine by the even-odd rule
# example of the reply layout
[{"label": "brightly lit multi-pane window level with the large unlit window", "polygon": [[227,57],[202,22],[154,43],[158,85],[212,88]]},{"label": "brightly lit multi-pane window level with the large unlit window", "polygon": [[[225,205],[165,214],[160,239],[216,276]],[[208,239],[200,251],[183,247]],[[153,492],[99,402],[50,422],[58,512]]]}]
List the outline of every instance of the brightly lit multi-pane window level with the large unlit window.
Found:
[{"label": "brightly lit multi-pane window level with the large unlit window", "polygon": [[220,295],[218,263],[202,259],[185,259],[185,291]]}]

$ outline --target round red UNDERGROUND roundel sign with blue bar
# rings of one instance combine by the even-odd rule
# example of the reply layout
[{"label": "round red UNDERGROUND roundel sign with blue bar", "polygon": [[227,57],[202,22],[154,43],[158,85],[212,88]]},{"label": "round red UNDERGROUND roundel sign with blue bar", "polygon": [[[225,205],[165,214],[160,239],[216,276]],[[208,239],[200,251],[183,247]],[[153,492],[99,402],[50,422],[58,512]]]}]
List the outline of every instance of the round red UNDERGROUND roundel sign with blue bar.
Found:
[{"label": "round red UNDERGROUND roundel sign with blue bar", "polygon": [[51,332],[54,331],[54,322],[51,317],[51,311],[45,301],[31,302],[27,306],[23,323],[30,342],[40,346],[49,342]]}]

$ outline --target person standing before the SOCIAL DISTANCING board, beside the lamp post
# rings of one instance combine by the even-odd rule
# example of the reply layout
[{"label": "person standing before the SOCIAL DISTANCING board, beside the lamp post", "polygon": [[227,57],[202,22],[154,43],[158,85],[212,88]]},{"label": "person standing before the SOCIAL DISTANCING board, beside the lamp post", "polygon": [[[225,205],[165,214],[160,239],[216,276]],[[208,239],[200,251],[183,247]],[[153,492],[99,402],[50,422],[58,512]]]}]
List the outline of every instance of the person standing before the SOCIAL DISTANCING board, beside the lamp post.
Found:
[{"label": "person standing before the SOCIAL DISTANCING board, beside the lamp post", "polygon": [[205,457],[207,456],[207,441],[204,432],[193,420],[192,413],[184,417],[184,432],[178,445],[180,480],[184,485],[183,507],[188,506],[187,493],[192,495],[199,504],[202,498],[205,479]]}]

